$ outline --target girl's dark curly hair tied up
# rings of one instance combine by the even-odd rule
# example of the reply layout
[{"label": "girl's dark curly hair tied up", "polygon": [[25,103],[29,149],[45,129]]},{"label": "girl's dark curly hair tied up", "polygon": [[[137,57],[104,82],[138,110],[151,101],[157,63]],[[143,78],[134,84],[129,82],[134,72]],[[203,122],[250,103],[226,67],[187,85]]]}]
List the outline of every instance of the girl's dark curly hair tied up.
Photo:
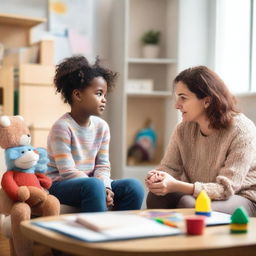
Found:
[{"label": "girl's dark curly hair tied up", "polygon": [[75,89],[83,90],[89,87],[95,77],[103,77],[108,91],[111,91],[117,73],[101,66],[98,57],[93,65],[82,55],[66,58],[56,67],[54,76],[56,92],[61,93],[65,103],[72,104],[72,92]]}]

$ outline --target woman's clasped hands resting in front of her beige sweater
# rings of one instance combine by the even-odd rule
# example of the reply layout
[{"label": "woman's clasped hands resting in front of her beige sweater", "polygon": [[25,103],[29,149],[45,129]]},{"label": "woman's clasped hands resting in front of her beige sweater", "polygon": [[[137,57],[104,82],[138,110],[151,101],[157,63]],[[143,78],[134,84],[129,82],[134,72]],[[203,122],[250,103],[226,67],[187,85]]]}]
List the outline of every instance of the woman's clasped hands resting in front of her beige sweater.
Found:
[{"label": "woman's clasped hands resting in front of her beige sweater", "polygon": [[163,171],[157,171],[157,178],[159,179],[157,182],[151,182],[150,179],[146,179],[145,183],[150,192],[158,196],[164,196],[168,193],[179,191],[179,181],[173,178],[170,174]]}]

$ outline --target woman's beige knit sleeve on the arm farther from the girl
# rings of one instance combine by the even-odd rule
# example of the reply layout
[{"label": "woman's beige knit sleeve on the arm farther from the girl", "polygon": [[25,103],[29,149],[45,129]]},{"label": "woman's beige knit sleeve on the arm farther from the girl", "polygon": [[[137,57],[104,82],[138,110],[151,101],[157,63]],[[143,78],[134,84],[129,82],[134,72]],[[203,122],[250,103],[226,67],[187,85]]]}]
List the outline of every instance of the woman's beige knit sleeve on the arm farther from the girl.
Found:
[{"label": "woman's beige knit sleeve on the arm farther from the girl", "polygon": [[225,200],[241,189],[255,159],[255,139],[249,135],[236,136],[228,150],[215,183],[195,182],[194,197],[205,190],[212,200]]}]

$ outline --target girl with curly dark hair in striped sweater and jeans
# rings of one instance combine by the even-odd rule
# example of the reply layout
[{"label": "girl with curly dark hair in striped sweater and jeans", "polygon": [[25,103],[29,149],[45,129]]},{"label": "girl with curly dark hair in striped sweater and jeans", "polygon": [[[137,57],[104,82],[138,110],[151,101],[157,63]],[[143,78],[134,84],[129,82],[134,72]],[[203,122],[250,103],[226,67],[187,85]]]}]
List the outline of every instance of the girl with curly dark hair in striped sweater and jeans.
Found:
[{"label": "girl with curly dark hair in striped sweater and jeans", "polygon": [[144,190],[135,179],[110,179],[108,124],[100,116],[116,73],[83,56],[57,66],[54,83],[71,107],[48,136],[50,193],[81,212],[140,209]]}]

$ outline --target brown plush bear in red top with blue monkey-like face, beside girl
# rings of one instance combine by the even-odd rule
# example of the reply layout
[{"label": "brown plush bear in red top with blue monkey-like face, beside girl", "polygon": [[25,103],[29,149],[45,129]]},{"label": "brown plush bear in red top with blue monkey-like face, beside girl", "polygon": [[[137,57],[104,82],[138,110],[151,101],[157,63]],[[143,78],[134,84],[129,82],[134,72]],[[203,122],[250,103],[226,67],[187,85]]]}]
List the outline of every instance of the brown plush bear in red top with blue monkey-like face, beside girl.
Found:
[{"label": "brown plush bear in red top with blue monkey-like face, beside girl", "polygon": [[51,180],[47,152],[30,145],[29,129],[21,116],[0,117],[0,146],[5,149],[7,171],[2,177],[0,213],[10,215],[14,248],[18,256],[32,255],[32,243],[20,230],[31,215],[58,215],[60,203],[49,195]]}]

